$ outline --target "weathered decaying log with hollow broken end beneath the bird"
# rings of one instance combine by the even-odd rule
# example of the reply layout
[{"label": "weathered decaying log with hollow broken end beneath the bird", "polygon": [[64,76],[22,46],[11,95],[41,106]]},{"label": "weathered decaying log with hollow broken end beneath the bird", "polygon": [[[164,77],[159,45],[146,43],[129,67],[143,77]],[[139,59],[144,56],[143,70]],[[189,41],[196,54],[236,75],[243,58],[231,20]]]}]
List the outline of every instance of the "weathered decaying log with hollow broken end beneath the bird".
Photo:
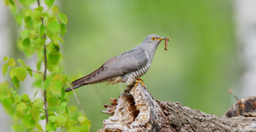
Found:
[{"label": "weathered decaying log with hollow broken end beneath the bird", "polygon": [[110,101],[102,113],[112,116],[98,132],[256,131],[255,117],[217,117],[178,102],[158,101],[142,84],[126,88],[118,100]]}]

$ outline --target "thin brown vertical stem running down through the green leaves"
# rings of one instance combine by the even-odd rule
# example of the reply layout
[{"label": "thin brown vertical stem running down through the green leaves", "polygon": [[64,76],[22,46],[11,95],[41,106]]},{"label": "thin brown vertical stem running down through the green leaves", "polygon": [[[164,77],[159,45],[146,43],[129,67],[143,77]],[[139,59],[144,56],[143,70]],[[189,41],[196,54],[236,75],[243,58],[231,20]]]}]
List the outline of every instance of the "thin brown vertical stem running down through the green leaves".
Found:
[{"label": "thin brown vertical stem running down through the green leaves", "polygon": [[[37,0],[37,4],[38,6],[40,6],[40,1]],[[43,24],[43,18],[41,18],[41,25]],[[45,38],[45,33],[43,34],[43,38]],[[45,43],[43,44],[43,54],[44,54],[44,74],[43,74],[43,82],[45,82],[46,80],[46,71],[47,71],[47,58],[46,58],[46,45]],[[43,99],[44,99],[44,107],[45,107],[45,119],[46,119],[46,123],[48,123],[48,110],[47,110],[47,91],[44,90],[43,92]]]}]

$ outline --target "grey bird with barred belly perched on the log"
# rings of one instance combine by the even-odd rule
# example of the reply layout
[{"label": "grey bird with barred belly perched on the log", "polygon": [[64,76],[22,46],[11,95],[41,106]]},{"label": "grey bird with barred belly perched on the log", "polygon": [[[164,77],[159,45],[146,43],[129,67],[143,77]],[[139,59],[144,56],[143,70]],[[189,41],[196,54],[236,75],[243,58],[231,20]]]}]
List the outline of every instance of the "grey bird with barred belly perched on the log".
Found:
[{"label": "grey bird with barred belly perched on the log", "polygon": [[[148,35],[136,48],[110,58],[98,70],[94,70],[94,72],[86,77],[81,77],[73,81],[72,88],[77,89],[82,85],[103,82],[109,82],[108,84],[122,82],[127,86],[138,81],[141,82],[139,77],[143,76],[149,70],[155,50],[162,40],[169,39],[156,34]],[[65,92],[72,91],[72,88],[65,89]]]}]

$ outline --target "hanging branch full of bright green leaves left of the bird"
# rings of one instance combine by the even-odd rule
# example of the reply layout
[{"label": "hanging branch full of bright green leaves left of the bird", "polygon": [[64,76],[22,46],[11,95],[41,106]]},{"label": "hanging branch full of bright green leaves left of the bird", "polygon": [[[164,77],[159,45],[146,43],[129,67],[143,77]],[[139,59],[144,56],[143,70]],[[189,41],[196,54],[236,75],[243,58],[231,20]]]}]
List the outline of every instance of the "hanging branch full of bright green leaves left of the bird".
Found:
[{"label": "hanging branch full of bright green leaves left of the bird", "polygon": [[[91,124],[87,116],[81,114],[74,106],[68,107],[69,98],[64,92],[69,78],[63,72],[60,46],[64,43],[62,37],[66,32],[65,25],[68,21],[66,15],[54,5],[55,0],[41,1],[48,7],[40,6],[39,1],[35,0],[4,2],[20,26],[17,47],[27,57],[35,55],[37,60],[37,70],[32,70],[21,59],[4,57],[6,63],[2,68],[3,74],[7,76],[9,71],[16,89],[11,88],[8,82],[0,84],[0,102],[11,116],[13,130],[55,131],[59,128],[73,132],[89,131]],[[33,8],[33,4],[38,6]],[[46,62],[47,70],[45,70]],[[38,89],[33,99],[26,94],[19,95],[17,92],[19,83],[24,82],[28,77],[27,74],[34,78],[33,86]],[[47,94],[46,99],[45,96],[37,97],[41,92]],[[47,100],[46,106],[44,106],[45,100]],[[39,121],[46,119],[49,119],[49,122],[41,126]]]}]

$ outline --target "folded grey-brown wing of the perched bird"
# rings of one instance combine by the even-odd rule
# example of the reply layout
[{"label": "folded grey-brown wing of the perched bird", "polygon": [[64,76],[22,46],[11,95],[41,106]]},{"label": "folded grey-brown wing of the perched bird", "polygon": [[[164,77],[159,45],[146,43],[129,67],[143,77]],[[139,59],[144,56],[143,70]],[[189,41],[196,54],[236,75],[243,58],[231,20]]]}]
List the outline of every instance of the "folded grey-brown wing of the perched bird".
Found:
[{"label": "folded grey-brown wing of the perched bird", "polygon": [[110,58],[98,70],[94,70],[94,72],[86,77],[79,78],[72,82],[72,85],[74,87],[75,85],[82,86],[84,84],[103,81],[111,77],[117,77],[133,70],[139,70],[148,60],[149,57],[146,51],[132,49],[121,55]]}]

